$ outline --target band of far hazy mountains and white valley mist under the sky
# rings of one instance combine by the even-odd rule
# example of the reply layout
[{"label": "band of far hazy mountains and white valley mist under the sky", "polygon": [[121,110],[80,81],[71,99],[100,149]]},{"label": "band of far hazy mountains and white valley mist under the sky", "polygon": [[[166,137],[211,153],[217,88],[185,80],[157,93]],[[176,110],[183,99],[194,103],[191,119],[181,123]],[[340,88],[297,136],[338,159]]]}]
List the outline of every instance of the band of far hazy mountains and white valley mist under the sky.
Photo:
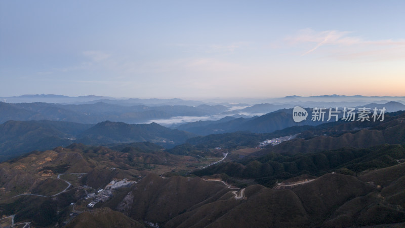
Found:
[{"label": "band of far hazy mountains and white valley mist under the sky", "polygon": [[[404,97],[363,97],[363,96],[315,96],[284,97],[268,99],[274,103],[213,103],[187,101],[181,99],[115,99],[97,96],[66,97],[62,95],[23,95],[1,98],[0,123],[8,120],[53,120],[84,124],[103,121],[125,122],[129,124],[151,123],[167,127],[198,120],[215,121],[224,117],[249,118],[262,116],[280,109],[300,107],[381,107],[388,112],[403,110]],[[18,102],[9,102],[18,101]],[[63,102],[65,99],[71,104]],[[80,104],[88,99],[91,103]],[[391,101],[390,101],[391,100]],[[24,102],[23,102],[24,101]],[[44,102],[58,101],[58,102]],[[66,101],[66,100],[65,100]],[[132,102],[136,101],[136,102]],[[139,102],[138,102],[139,101]],[[400,103],[400,102],[403,103]],[[194,102],[190,104],[190,102]],[[374,104],[376,103],[376,104]]]}]

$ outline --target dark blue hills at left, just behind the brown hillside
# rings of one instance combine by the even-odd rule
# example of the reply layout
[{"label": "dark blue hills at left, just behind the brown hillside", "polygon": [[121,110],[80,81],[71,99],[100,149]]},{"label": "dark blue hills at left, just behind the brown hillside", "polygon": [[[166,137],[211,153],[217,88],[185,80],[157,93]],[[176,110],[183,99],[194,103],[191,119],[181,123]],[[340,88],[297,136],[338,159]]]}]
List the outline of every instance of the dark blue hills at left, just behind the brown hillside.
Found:
[{"label": "dark blue hills at left, just behind the brown hillside", "polygon": [[52,149],[73,142],[106,145],[150,141],[173,147],[192,136],[156,123],[131,125],[107,121],[93,125],[63,121],[8,121],[0,125],[0,161],[32,150]]}]

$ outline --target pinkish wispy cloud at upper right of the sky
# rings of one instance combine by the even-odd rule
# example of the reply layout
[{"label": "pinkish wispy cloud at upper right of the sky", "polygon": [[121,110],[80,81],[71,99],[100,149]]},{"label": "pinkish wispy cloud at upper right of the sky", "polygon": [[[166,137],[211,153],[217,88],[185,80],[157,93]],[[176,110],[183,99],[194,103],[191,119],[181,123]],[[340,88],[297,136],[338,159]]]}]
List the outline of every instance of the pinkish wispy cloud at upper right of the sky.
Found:
[{"label": "pinkish wispy cloud at upper right of the sky", "polygon": [[[398,48],[405,48],[405,40],[378,40],[370,41],[362,39],[359,36],[352,36],[353,32],[350,31],[337,31],[337,30],[327,30],[327,31],[315,31],[310,28],[299,30],[295,35],[287,36],[285,41],[293,46],[299,45],[311,45],[313,48],[305,51],[301,56],[308,55],[314,52],[320,47],[335,48],[332,49],[332,54],[338,54],[351,57],[365,57],[374,56],[381,54],[390,54],[391,52],[396,52]],[[397,56],[397,55],[395,55]],[[405,56],[402,56],[402,58]]]}]

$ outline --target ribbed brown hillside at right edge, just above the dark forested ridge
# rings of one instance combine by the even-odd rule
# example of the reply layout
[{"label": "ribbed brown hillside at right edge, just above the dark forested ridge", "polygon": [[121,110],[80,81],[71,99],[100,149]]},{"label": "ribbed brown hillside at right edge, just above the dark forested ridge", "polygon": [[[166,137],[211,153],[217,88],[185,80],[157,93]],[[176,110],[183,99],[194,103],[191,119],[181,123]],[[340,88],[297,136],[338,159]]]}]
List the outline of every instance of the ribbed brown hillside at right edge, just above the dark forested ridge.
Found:
[{"label": "ribbed brown hillside at right edge, just above the dark forested ridge", "polygon": [[[367,148],[384,143],[403,144],[405,142],[405,114],[387,117],[384,122],[326,124],[324,129],[303,132],[300,138],[282,142],[258,151],[253,156],[266,153],[314,153],[342,147]],[[331,125],[331,126],[330,126]],[[330,126],[330,127],[328,127]],[[354,130],[353,130],[354,129]],[[302,138],[309,136],[308,138]]]}]

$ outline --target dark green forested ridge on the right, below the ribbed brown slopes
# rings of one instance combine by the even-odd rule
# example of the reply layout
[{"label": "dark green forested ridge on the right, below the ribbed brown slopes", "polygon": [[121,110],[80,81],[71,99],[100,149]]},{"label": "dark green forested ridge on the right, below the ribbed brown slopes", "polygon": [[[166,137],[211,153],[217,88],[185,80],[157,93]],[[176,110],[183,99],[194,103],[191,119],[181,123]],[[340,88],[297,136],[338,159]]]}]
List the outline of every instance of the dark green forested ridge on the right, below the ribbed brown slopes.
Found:
[{"label": "dark green forested ridge on the right, below the ribbed brown slopes", "polygon": [[[370,148],[340,148],[308,154],[269,153],[230,162],[222,162],[203,170],[195,170],[198,176],[226,174],[228,179],[254,179],[256,183],[272,186],[280,179],[303,174],[320,176],[338,172],[348,175],[398,164],[405,158],[405,146],[383,144]],[[398,160],[398,161],[397,161]]]}]

